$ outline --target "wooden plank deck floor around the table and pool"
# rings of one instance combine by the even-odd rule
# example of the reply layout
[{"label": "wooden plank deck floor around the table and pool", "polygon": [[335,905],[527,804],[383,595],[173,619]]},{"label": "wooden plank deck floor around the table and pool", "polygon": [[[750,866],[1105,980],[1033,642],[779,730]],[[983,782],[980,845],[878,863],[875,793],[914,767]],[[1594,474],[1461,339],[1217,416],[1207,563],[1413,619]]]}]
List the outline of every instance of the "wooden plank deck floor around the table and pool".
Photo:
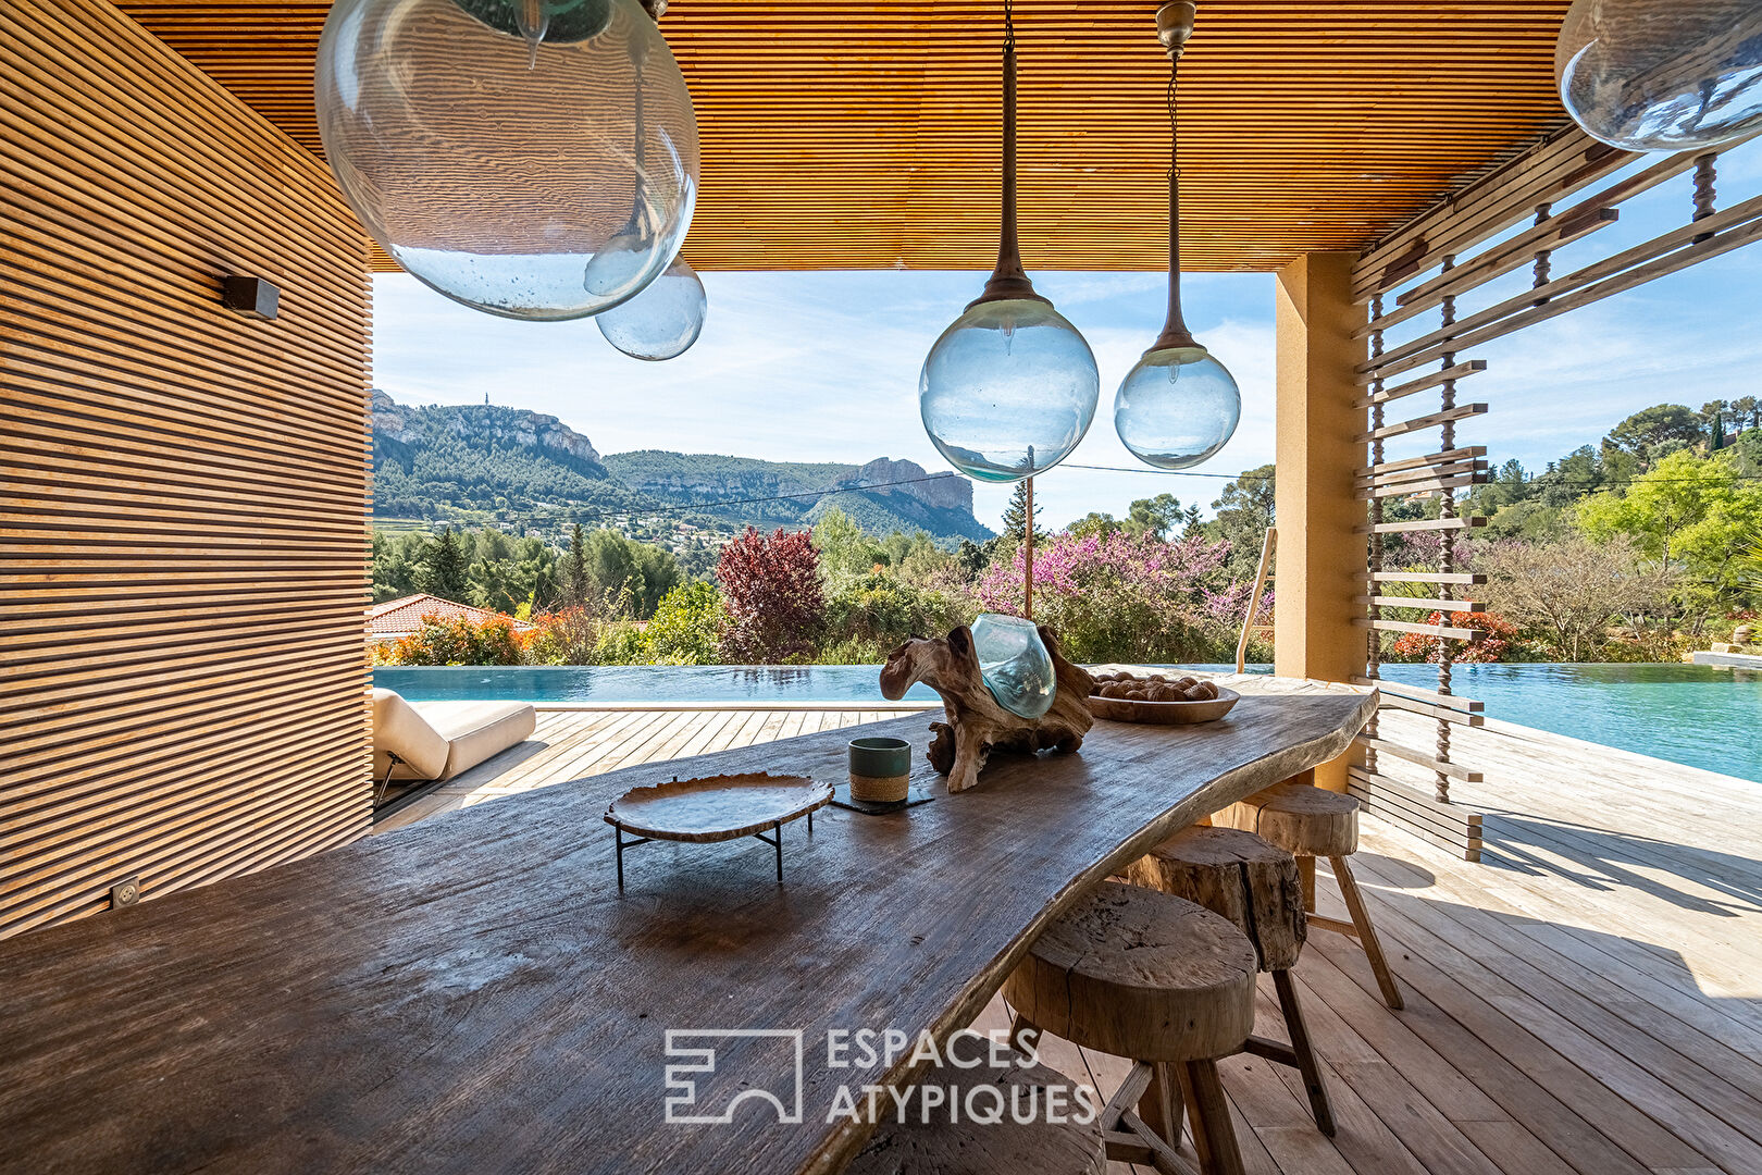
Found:
[{"label": "wooden plank deck floor around the table and pool", "polygon": [[[879,717],[544,713],[534,743],[388,824]],[[1404,719],[1385,713],[1385,729]],[[1762,1171],[1762,784],[1496,722],[1461,731],[1457,749],[1487,775],[1457,787],[1487,812],[1487,860],[1364,821],[1355,868],[1408,1008],[1383,1008],[1353,942],[1311,932],[1297,979],[1339,1136],[1316,1133],[1293,1073],[1226,1060],[1247,1170]],[[1325,877],[1320,890],[1343,916]],[[1277,1036],[1265,981],[1262,1011]],[[980,1027],[1004,1024],[994,1001]],[[1057,1041],[1045,1057],[1107,1089],[1124,1073]]]}]

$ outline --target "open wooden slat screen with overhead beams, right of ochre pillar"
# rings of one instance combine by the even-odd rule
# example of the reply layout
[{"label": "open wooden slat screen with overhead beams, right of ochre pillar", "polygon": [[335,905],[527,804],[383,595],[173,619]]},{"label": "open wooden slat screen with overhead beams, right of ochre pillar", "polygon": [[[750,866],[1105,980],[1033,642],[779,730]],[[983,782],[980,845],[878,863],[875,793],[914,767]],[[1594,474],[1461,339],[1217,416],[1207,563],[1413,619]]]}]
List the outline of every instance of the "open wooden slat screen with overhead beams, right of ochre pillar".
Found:
[{"label": "open wooden slat screen with overhead beams, right of ochre pillar", "polygon": [[[1480,816],[1452,802],[1450,780],[1478,782],[1480,775],[1454,759],[1450,733],[1478,726],[1482,705],[1454,691],[1450,662],[1452,641],[1475,636],[1471,627],[1459,624],[1462,611],[1471,608],[1461,595],[1475,595],[1485,576],[1455,565],[1452,536],[1482,521],[1455,516],[1455,493],[1487,481],[1489,472],[1485,447],[1455,440],[1455,423],[1485,410],[1485,405],[1455,403],[1457,382],[1487,368],[1462,354],[1762,240],[1762,196],[1727,197],[1720,206],[1718,159],[1718,151],[1706,150],[1637,155],[1596,143],[1575,127],[1566,129],[1376,245],[1353,273],[1355,296],[1371,305],[1371,319],[1359,331],[1371,340],[1371,358],[1359,368],[1366,395],[1357,407],[1371,412],[1371,432],[1362,439],[1373,446],[1371,465],[1357,470],[1359,497],[1369,504],[1371,516],[1364,527],[1369,536],[1366,594],[1359,599],[1367,615],[1359,624],[1369,629],[1371,639],[1366,676],[1353,680],[1381,685],[1385,708],[1434,719],[1438,735],[1434,749],[1415,750],[1380,736],[1373,722],[1359,740],[1362,757],[1348,772],[1350,789],[1373,812],[1427,840],[1461,849],[1468,860],[1480,854]],[[1563,250],[1616,224],[1625,201],[1667,183],[1681,190],[1679,227],[1577,268],[1563,264],[1584,255]],[[1470,255],[1475,248],[1480,252]],[[1484,289],[1526,266],[1528,289],[1503,296]],[[1491,305],[1459,314],[1457,298],[1466,294],[1478,294]],[[1422,315],[1431,314],[1441,321],[1427,329]],[[1403,324],[1415,336],[1387,345],[1385,331]],[[1427,370],[1433,365],[1436,370]],[[1440,395],[1440,412],[1408,407],[1418,403],[1408,396],[1422,391]],[[1388,405],[1411,419],[1385,423]],[[1441,432],[1438,451],[1383,460],[1381,440],[1431,428]],[[1383,521],[1385,502],[1413,495],[1438,499],[1440,518]],[[1385,536],[1411,530],[1431,530],[1441,539],[1436,571],[1383,565]],[[1408,583],[1429,583],[1434,595],[1411,602],[1390,595],[1392,585]],[[1434,610],[1440,620],[1385,618],[1387,610],[1397,608]],[[1441,654],[1436,691],[1380,680],[1378,634],[1385,631],[1436,639]],[[1392,779],[1380,763],[1385,757],[1431,773],[1431,794]]]}]

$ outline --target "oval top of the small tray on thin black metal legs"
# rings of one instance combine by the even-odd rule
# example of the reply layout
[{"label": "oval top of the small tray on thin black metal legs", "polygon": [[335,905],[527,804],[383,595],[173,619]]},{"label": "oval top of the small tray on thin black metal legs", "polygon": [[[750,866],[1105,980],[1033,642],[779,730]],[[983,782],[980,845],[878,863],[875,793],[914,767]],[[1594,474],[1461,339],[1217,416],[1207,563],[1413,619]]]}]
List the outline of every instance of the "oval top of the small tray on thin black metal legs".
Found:
[{"label": "oval top of the small tray on thin black metal legs", "polygon": [[633,787],[606,809],[606,823],[657,840],[733,840],[788,824],[832,800],[807,775],[708,775]]}]

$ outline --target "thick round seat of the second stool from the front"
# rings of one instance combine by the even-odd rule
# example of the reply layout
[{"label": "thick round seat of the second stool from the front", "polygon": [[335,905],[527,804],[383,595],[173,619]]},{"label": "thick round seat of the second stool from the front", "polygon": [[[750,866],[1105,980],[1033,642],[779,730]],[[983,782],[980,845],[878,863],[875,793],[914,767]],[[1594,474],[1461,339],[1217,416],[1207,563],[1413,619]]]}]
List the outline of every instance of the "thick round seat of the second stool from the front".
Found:
[{"label": "thick round seat of the second stool from the front", "polygon": [[1103,881],[1048,927],[1004,983],[1018,1015],[1084,1048],[1133,1060],[1240,1052],[1255,1029],[1247,937],[1166,893]]}]

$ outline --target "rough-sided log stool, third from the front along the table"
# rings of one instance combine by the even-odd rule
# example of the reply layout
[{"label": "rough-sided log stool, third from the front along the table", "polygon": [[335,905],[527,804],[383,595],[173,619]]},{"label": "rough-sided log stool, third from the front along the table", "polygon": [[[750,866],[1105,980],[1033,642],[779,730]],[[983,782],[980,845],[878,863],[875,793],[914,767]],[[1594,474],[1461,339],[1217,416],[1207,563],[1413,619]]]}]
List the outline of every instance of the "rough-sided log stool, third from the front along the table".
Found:
[{"label": "rough-sided log stool, third from the front along the table", "polygon": [[1292,967],[1304,948],[1304,891],[1297,858],[1237,828],[1189,828],[1133,861],[1126,881],[1198,902],[1233,921],[1272,972],[1290,1045],[1249,1036],[1244,1052],[1292,1066],[1304,1078],[1316,1127],[1334,1136],[1334,1106],[1309,1045],[1309,1025],[1297,1002]]}]

